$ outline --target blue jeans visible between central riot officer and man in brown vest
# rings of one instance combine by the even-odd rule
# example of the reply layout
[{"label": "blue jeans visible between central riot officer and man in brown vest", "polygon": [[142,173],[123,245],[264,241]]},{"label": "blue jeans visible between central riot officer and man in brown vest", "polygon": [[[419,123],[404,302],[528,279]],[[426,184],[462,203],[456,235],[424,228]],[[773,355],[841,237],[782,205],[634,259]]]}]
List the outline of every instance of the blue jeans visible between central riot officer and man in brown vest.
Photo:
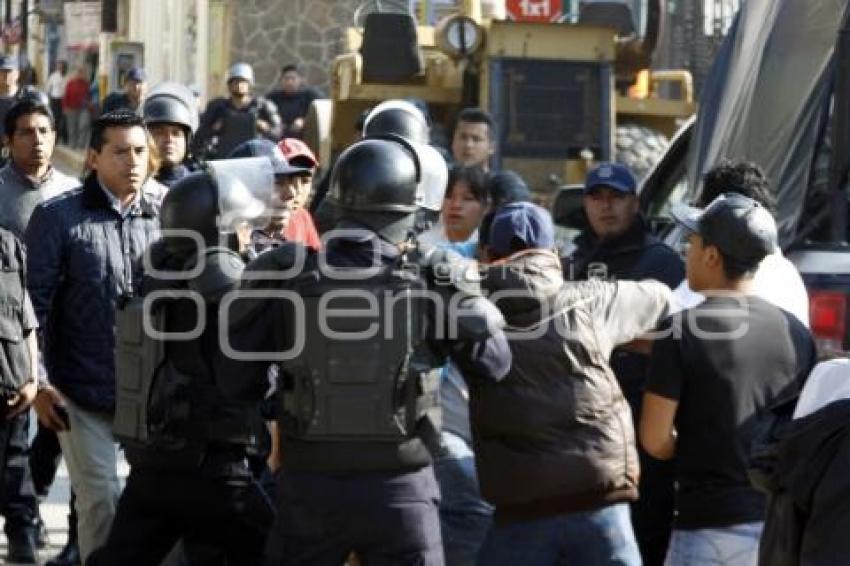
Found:
[{"label": "blue jeans visible between central riot officer and man in brown vest", "polygon": [[492,523],[493,507],[481,499],[475,456],[466,441],[444,431],[442,448],[434,473],[440,485],[443,554],[446,566],[467,566],[475,564]]}]

